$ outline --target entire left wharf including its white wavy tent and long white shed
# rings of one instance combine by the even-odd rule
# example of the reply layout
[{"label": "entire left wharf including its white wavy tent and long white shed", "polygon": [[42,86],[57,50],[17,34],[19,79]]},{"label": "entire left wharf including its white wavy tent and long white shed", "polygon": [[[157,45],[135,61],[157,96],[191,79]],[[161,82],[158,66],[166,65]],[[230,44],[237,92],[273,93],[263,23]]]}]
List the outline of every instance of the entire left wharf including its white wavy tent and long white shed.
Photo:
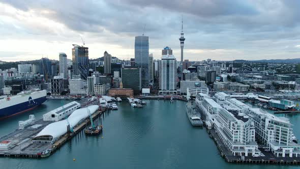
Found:
[{"label": "entire left wharf including its white wavy tent and long white shed", "polygon": [[[106,109],[98,109],[98,105],[78,109],[78,105],[78,103],[74,102],[68,103],[66,106],[58,107],[55,111],[48,112],[43,116],[43,119],[37,121],[32,118],[33,115],[30,115],[29,120],[31,118],[33,120],[26,126],[20,125],[19,122],[19,129],[0,138],[0,156],[22,158],[48,157],[76,134],[81,134],[84,128],[88,128],[88,124],[94,126],[94,123],[97,125],[100,122],[102,123],[100,116],[104,116],[103,113]],[[71,112],[71,107],[75,111],[67,120],[59,121],[60,119],[55,119],[55,115],[61,115],[61,112],[64,112],[64,114],[68,111]],[[90,113],[88,116],[83,111],[87,109],[87,112],[89,112],[90,108],[92,108],[93,113]],[[47,116],[48,114],[51,114],[51,116]],[[70,119],[72,116],[76,120],[74,118]],[[53,119],[49,119],[49,117]],[[67,127],[66,131],[65,127]],[[101,128],[97,126],[97,129],[102,131],[102,126]]]}]

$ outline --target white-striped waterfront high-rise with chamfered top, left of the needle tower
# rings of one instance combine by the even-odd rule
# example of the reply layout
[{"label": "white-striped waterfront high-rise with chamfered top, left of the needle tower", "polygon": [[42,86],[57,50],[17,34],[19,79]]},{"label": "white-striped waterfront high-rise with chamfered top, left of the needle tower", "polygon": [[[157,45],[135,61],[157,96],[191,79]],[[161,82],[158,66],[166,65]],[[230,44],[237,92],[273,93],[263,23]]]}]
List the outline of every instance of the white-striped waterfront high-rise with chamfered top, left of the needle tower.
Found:
[{"label": "white-striped waterfront high-rise with chamfered top, left of the needle tower", "polygon": [[177,61],[170,54],[159,61],[159,94],[177,94]]}]

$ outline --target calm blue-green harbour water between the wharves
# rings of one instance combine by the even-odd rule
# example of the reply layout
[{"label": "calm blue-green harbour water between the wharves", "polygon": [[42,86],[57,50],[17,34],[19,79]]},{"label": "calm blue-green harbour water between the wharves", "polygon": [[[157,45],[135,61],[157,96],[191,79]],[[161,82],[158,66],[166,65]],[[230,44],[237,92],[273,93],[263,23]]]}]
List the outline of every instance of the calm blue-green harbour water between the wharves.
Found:
[{"label": "calm blue-green harbour water between the wharves", "polygon": [[[225,162],[206,129],[191,126],[185,104],[148,100],[137,109],[125,101],[118,103],[119,109],[103,120],[103,138],[73,138],[72,144],[46,159],[0,158],[0,168],[299,168]],[[33,112],[42,117],[58,106],[61,102],[47,101]],[[20,118],[0,122],[0,135],[16,128]],[[300,117],[290,118],[295,124]],[[300,136],[299,126],[295,124],[296,136]]]}]

